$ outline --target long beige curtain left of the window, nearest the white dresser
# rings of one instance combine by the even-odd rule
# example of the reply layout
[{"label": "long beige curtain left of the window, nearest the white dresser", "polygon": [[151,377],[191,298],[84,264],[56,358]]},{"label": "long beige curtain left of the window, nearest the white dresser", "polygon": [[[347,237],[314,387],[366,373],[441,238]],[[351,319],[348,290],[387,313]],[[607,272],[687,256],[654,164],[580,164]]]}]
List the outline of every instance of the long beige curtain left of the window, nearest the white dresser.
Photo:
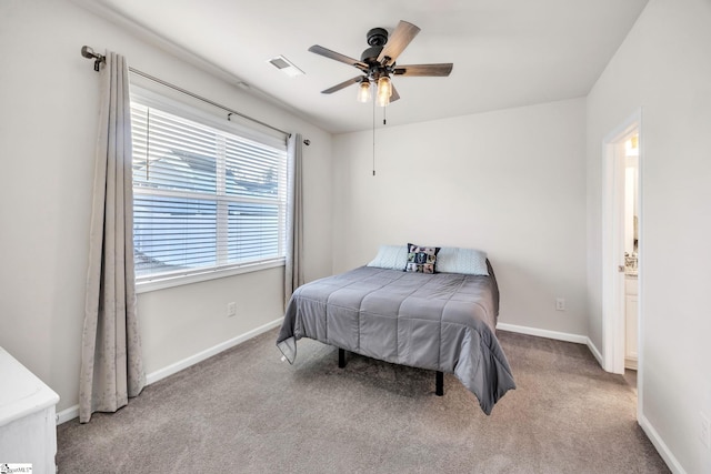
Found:
[{"label": "long beige curtain left of the window, nearest the white dresser", "polygon": [[136,314],[133,189],[128,64],[113,52],[101,70],[79,421],[116,412],[146,384]]}]

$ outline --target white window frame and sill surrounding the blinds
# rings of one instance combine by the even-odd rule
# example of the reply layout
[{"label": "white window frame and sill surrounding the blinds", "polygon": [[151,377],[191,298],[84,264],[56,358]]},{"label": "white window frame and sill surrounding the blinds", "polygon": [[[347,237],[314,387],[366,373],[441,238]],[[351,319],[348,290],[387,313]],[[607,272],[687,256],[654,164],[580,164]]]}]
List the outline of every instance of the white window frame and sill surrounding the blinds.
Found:
[{"label": "white window frame and sill surrounding the blinds", "polygon": [[[283,192],[287,192],[288,189],[288,169],[289,169],[289,157],[287,151],[287,137],[278,132],[262,132],[257,130],[254,125],[250,127],[247,123],[241,123],[240,121],[228,121],[224,115],[218,115],[213,110],[208,111],[207,108],[198,107],[198,104],[189,104],[183,101],[177,100],[173,97],[168,94],[154,92],[149,89],[144,89],[141,85],[131,84],[131,103],[140,103],[141,105],[146,105],[149,108],[159,109],[160,111],[177,115],[179,118],[190,120],[202,125],[223,131],[227,133],[231,133],[238,135],[242,139],[256,141],[263,143],[266,145],[274,147],[278,149],[283,149],[286,157],[284,167],[280,170],[279,183],[280,186],[283,185]],[[197,101],[196,101],[197,102]],[[203,105],[203,104],[199,104]],[[249,123],[249,122],[248,122]],[[218,163],[216,163],[216,167]],[[216,175],[219,174],[216,171]],[[148,190],[142,190],[137,192],[137,188],[133,186],[133,195],[136,199],[136,194],[151,194],[153,192]],[[170,192],[167,191],[166,194]],[[160,193],[158,193],[160,194]],[[198,194],[198,193],[196,193]],[[216,204],[220,205],[219,193],[210,194],[216,199]],[[212,199],[211,198],[211,199]],[[280,256],[264,259],[262,261],[254,262],[246,262],[246,263],[226,263],[226,264],[217,264],[212,266],[206,266],[203,269],[186,269],[184,271],[176,271],[170,273],[157,274],[157,275],[146,275],[146,276],[137,276],[136,278],[136,292],[144,293],[154,290],[162,290],[173,286],[179,286],[183,284],[192,284],[198,282],[204,282],[219,278],[227,278],[232,275],[239,275],[244,273],[251,273],[256,271],[262,271],[279,266],[286,265],[286,225],[287,225],[287,206],[288,206],[289,196],[284,195],[282,199],[277,199],[274,202],[280,206],[281,211],[279,212],[279,232],[282,234],[279,236],[279,254]],[[234,200],[233,202],[249,202],[254,201],[251,198],[243,198],[240,200]],[[257,199],[259,201],[259,199]],[[222,201],[222,202],[229,202]],[[283,203],[283,205],[281,205]],[[227,221],[220,224],[219,219],[216,222],[218,228],[221,225],[227,225]],[[228,238],[229,240],[229,238]],[[218,252],[219,250],[216,249]]]}]

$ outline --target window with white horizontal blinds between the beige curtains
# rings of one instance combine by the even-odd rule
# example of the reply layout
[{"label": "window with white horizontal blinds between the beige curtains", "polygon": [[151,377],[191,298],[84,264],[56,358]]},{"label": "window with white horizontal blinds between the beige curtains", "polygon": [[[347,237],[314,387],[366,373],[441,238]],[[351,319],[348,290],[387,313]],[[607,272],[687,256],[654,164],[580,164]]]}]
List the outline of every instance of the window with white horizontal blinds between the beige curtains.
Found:
[{"label": "window with white horizontal blinds between the beige curtains", "polygon": [[286,141],[166,109],[131,101],[137,282],[282,263]]}]

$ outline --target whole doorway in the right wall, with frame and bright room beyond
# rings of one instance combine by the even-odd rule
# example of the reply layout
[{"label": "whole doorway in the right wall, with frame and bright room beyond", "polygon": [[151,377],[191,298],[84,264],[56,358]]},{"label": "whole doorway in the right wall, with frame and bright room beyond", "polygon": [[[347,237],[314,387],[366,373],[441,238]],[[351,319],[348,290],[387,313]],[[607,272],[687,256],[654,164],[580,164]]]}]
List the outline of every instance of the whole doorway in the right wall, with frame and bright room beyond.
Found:
[{"label": "whole doorway in the right wall, with frame and bright room beyond", "polygon": [[628,369],[628,375],[641,365],[641,143],[638,111],[603,140],[602,158],[603,369],[617,374]]}]

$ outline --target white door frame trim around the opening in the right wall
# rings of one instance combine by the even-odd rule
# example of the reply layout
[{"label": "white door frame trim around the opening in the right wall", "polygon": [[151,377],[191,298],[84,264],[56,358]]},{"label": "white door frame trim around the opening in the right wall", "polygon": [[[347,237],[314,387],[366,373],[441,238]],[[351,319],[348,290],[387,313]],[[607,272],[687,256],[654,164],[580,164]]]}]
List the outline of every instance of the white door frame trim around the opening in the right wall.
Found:
[{"label": "white door frame trim around the opening in the right wall", "polygon": [[[624,155],[622,143],[637,132],[640,150],[639,195],[642,180],[642,110],[638,109],[602,141],[602,360],[603,369],[615,374],[624,373]],[[640,223],[642,203],[640,202]],[[639,241],[643,242],[641,225]],[[641,259],[641,245],[638,249]],[[638,272],[641,282],[641,268]],[[641,290],[641,285],[640,290]],[[640,293],[641,301],[641,293]],[[641,339],[641,311],[638,306],[638,336]],[[638,341],[638,373],[641,372],[642,345]],[[638,380],[639,382],[639,380]],[[638,390],[639,393],[639,390]],[[640,394],[641,395],[641,394]]]}]

